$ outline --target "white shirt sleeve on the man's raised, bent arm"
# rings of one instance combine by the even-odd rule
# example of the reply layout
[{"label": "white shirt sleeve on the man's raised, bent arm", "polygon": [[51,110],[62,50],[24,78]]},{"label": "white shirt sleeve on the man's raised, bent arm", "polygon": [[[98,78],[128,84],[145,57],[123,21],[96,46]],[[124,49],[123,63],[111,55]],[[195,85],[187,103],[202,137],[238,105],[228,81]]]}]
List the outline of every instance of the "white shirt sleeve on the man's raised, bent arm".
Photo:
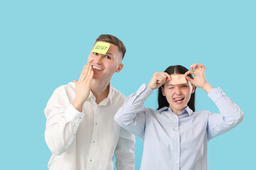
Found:
[{"label": "white shirt sleeve on the man's raised, bent arm", "polygon": [[72,144],[84,113],[77,111],[63,86],[53,92],[46,108],[45,138],[50,152],[60,155]]}]

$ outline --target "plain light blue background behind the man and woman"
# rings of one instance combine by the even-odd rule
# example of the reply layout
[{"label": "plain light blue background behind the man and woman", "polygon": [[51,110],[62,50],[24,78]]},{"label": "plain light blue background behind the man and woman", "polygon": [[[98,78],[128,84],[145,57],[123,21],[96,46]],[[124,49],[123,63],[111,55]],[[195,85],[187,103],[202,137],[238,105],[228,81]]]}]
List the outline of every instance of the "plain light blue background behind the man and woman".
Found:
[{"label": "plain light blue background behind the man and woman", "polygon": [[[206,65],[206,78],[245,113],[208,143],[209,169],[255,165],[255,1],[0,1],[0,169],[47,169],[43,109],[53,90],[78,79],[95,39],[127,47],[112,85],[126,96],[173,64]],[[156,108],[156,91],[145,106]],[[218,113],[201,89],[196,110]],[[143,142],[137,138],[136,169]]]}]

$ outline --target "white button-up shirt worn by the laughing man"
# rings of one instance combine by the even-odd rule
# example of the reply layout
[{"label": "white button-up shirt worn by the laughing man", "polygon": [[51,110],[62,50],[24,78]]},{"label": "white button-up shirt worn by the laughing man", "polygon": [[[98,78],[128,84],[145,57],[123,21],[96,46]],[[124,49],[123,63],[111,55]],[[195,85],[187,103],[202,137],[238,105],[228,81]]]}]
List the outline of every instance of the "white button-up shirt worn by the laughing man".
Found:
[{"label": "white button-up shirt worn by the laughing man", "polygon": [[50,170],[134,169],[135,137],[114,122],[125,96],[110,85],[107,98],[97,104],[90,92],[82,113],[72,103],[73,82],[55,89],[45,108],[46,144]]}]

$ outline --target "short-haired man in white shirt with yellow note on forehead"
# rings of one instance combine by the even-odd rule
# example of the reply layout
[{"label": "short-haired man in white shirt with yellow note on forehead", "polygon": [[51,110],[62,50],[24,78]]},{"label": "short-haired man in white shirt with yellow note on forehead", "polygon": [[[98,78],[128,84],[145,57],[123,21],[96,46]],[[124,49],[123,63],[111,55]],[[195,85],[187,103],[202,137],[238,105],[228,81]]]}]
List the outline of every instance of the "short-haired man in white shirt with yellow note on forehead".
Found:
[{"label": "short-haired man in white shirt with yellow note on forehead", "polygon": [[113,170],[114,156],[117,169],[134,169],[135,137],[114,122],[125,96],[110,84],[126,49],[113,35],[100,35],[92,49],[78,81],[55,89],[47,103],[50,170]]}]

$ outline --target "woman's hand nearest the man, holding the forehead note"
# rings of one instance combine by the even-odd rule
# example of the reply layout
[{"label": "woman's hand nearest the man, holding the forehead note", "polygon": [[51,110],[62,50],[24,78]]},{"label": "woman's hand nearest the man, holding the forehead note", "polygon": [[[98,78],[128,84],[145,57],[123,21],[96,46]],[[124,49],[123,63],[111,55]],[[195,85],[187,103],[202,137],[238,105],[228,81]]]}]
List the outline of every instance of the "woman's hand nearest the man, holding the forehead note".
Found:
[{"label": "woman's hand nearest the man, holding the forehead note", "polygon": [[154,90],[161,87],[167,81],[171,80],[171,76],[166,72],[155,72],[151,80],[149,81],[148,86]]}]

